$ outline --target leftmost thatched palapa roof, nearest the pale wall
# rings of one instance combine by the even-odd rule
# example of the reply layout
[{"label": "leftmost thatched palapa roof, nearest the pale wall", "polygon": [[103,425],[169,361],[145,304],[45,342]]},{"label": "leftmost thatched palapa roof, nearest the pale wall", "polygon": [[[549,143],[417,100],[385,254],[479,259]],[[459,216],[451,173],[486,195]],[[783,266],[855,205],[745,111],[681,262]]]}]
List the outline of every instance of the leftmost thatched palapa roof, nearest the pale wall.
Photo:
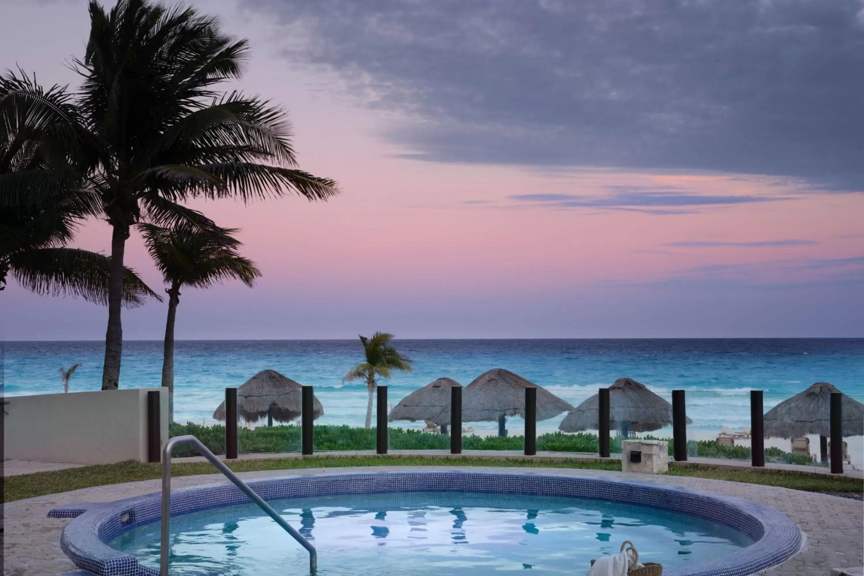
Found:
[{"label": "leftmost thatched palapa roof, nearest the pale wall", "polygon": [[[237,389],[237,413],[247,422],[267,415],[272,407],[273,420],[295,421],[302,415],[302,385],[276,370],[262,370]],[[314,398],[314,415],[324,414],[318,398]],[[216,420],[225,420],[225,402],[213,412]]]}]

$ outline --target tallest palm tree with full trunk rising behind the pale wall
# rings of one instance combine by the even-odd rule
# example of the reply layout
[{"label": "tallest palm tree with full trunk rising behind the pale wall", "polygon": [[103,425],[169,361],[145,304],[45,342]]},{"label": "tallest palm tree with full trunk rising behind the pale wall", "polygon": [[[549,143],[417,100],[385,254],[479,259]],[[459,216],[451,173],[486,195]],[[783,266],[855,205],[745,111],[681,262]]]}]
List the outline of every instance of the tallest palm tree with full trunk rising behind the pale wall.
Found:
[{"label": "tallest palm tree with full trunk rising behind the pale wall", "polygon": [[111,225],[111,283],[102,389],[116,389],[123,347],[120,302],[124,250],[140,221],[202,229],[212,222],[180,203],[204,197],[244,201],[289,193],[328,199],[334,180],[296,168],[283,111],[215,85],[238,79],[248,41],[194,9],[119,0],[90,3],[90,38],[75,60],[79,111],[92,136],[81,147],[89,181]]}]

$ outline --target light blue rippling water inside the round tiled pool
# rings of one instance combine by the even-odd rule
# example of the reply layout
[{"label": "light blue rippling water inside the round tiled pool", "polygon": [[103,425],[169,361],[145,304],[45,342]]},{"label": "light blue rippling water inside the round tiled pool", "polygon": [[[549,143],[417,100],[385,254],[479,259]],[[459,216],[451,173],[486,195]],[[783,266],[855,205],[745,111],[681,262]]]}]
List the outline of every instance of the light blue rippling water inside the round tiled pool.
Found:
[{"label": "light blue rippling water inside the round tiled pool", "polygon": [[[321,576],[584,574],[632,541],[641,560],[686,567],[753,543],[694,516],[570,497],[397,492],[270,502],[318,550]],[[308,553],[253,504],[171,518],[172,576],[308,573]],[[159,566],[158,522],[110,542]]]}]

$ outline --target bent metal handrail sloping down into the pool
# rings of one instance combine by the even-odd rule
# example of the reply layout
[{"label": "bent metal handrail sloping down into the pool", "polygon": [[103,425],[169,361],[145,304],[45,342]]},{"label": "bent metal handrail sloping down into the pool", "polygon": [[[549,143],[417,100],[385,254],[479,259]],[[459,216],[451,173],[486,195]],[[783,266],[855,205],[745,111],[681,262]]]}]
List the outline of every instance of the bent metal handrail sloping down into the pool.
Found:
[{"label": "bent metal handrail sloping down into the pool", "polygon": [[170,551],[170,545],[168,544],[168,529],[171,519],[171,450],[178,444],[188,444],[189,446],[193,446],[201,456],[210,461],[210,464],[216,466],[216,469],[219,470],[219,472],[225,474],[226,477],[240,489],[240,491],[250,497],[252,502],[257,503],[258,507],[267,513],[267,516],[270,516],[270,518],[275,520],[279,526],[285,529],[285,531],[295,539],[295,541],[298,541],[303,548],[306,548],[309,552],[309,572],[313,574],[315,573],[315,570],[318,567],[318,553],[315,552],[314,546],[309,544],[309,541],[303,538],[299,532],[291,528],[290,524],[285,522],[285,519],[282,516],[279,516],[276,510],[273,510],[272,507],[270,507],[270,504],[264,502],[262,497],[258,496],[255,491],[252,491],[249,484],[246,484],[243,480],[238,478],[237,474],[232,472],[225,463],[216,458],[216,455],[210,452],[200,440],[192,435],[187,435],[175,436],[171,440],[168,440],[165,447],[162,448],[162,547],[160,548],[160,576],[168,576],[168,553]]}]

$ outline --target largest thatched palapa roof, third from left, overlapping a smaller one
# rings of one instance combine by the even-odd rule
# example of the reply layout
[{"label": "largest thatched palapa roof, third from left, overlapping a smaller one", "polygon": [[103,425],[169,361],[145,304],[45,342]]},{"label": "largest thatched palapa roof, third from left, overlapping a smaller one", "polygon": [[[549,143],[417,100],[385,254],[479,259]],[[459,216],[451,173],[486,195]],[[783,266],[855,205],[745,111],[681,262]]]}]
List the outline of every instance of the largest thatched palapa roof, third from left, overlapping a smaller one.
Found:
[{"label": "largest thatched palapa roof, third from left, overlapping a smaller one", "polygon": [[572,410],[549,390],[510,370],[495,368],[480,374],[462,392],[462,421],[498,421],[499,416],[525,417],[525,389],[537,389],[537,420],[549,420]]}]

